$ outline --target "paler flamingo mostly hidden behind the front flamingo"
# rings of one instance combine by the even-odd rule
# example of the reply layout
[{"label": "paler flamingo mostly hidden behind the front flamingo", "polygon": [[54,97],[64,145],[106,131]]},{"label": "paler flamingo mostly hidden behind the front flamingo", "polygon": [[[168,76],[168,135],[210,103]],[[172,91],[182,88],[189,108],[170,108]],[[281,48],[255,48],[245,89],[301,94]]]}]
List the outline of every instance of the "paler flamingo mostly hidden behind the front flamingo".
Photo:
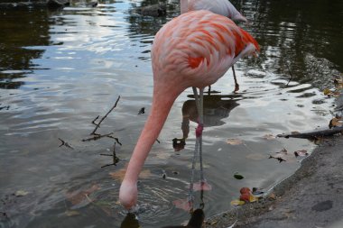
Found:
[{"label": "paler flamingo mostly hidden behind the front flamingo", "polygon": [[[236,7],[232,5],[228,0],[188,0],[188,7],[181,8],[181,12],[190,12],[195,10],[209,10],[214,14],[226,16],[235,22],[247,23],[246,17],[240,14],[236,10]],[[239,85],[237,83],[234,65],[232,65],[232,73],[235,80],[235,91],[238,91]],[[211,86],[209,86],[209,91],[210,87]]]}]

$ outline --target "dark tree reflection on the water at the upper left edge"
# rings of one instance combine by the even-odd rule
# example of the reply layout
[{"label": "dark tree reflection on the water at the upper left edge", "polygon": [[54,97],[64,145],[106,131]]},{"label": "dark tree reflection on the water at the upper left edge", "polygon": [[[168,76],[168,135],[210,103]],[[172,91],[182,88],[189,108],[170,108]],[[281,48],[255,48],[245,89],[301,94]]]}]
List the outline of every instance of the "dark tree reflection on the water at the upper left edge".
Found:
[{"label": "dark tree reflection on the water at the upper left edge", "polygon": [[0,88],[18,88],[17,78],[25,77],[23,70],[33,69],[32,59],[39,59],[43,50],[24,47],[49,44],[49,22],[45,9],[13,7],[0,9]]}]

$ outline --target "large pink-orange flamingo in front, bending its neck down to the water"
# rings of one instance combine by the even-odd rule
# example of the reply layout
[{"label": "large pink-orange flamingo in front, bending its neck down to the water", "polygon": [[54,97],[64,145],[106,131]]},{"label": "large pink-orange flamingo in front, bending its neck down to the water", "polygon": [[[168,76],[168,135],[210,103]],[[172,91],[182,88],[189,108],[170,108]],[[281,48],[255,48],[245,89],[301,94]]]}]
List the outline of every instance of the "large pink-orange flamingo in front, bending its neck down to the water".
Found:
[{"label": "large pink-orange flamingo in front, bending its neck down to the water", "polygon": [[199,88],[198,137],[202,132],[204,87],[215,83],[238,59],[257,50],[259,46],[248,32],[227,17],[209,11],[181,14],[156,33],[152,47],[153,105],[119,192],[126,209],[137,203],[138,175],[175,99],[188,87],[193,87],[198,97]]}]

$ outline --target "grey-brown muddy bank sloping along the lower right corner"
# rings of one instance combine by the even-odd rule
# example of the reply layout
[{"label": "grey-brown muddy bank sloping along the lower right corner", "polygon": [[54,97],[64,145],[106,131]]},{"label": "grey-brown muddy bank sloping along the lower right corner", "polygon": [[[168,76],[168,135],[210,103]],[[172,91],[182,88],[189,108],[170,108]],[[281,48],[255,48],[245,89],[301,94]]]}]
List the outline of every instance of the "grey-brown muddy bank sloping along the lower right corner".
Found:
[{"label": "grey-brown muddy bank sloping along the lower right corner", "polygon": [[[343,137],[323,141],[294,175],[274,187],[276,197],[207,219],[206,227],[343,227]],[[229,202],[228,202],[229,203]]]}]

